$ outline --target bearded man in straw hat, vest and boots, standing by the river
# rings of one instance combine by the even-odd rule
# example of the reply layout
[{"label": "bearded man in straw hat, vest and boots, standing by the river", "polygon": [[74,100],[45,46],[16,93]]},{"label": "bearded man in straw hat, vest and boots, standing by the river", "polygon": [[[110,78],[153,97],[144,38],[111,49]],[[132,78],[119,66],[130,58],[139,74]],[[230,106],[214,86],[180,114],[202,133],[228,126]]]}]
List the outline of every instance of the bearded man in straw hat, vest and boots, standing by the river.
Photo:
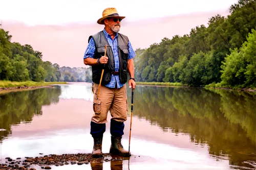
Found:
[{"label": "bearded man in straw hat, vest and boots, standing by the river", "polygon": [[[134,63],[136,54],[127,36],[118,33],[121,20],[116,8],[106,8],[97,23],[104,25],[104,29],[88,39],[88,47],[83,57],[86,65],[92,66],[93,80],[93,110],[91,119],[91,135],[94,139],[93,157],[102,157],[102,138],[105,132],[105,123],[108,111],[111,113],[110,153],[120,156],[131,156],[123,149],[121,139],[124,122],[127,119],[128,104],[126,95],[127,73],[130,73],[129,88],[135,89]],[[104,57],[105,44],[106,56]],[[102,76],[100,93],[97,98],[99,82]]]}]

